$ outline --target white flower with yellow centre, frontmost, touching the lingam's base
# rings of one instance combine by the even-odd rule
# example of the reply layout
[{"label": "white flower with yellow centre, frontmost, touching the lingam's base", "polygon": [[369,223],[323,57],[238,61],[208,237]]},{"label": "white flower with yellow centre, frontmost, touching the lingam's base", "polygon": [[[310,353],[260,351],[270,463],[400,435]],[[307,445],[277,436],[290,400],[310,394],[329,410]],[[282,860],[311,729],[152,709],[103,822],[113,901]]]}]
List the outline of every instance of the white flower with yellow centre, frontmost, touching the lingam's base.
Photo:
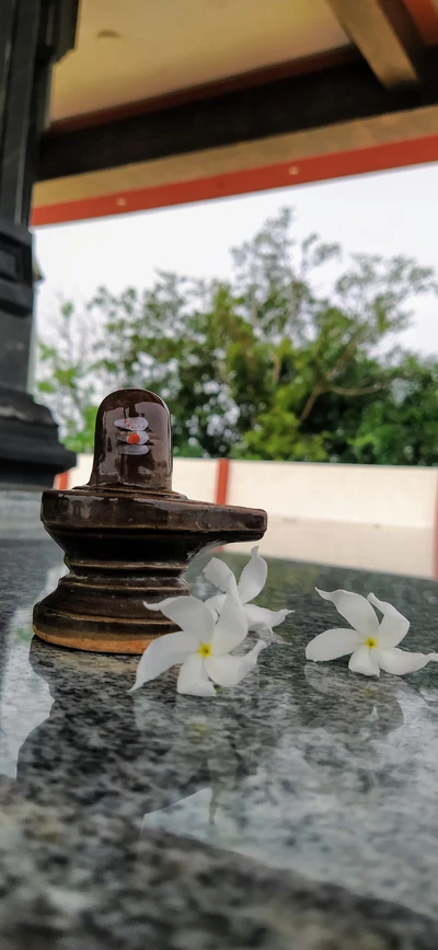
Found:
[{"label": "white flower with yellow centre, frontmost, touching the lingam's base", "polygon": [[235,686],[253,670],[261,650],[266,646],[258,641],[243,657],[233,657],[231,651],[246,637],[246,618],[237,598],[224,598],[218,615],[206,603],[194,596],[166,598],[145,606],[149,611],[162,611],[165,617],[178,624],[181,632],[157,637],[146,648],[137,668],[132,690],[154,680],[170,667],[182,663],[177,679],[177,692],[192,696],[215,696],[215,686]]}]

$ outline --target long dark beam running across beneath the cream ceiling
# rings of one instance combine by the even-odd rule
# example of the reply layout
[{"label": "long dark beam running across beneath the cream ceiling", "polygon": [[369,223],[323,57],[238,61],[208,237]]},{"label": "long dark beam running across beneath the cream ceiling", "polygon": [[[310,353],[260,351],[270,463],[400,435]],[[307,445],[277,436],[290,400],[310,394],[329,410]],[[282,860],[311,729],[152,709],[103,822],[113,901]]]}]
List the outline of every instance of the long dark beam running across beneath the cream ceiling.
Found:
[{"label": "long dark beam running across beneath the cream ceiling", "polygon": [[110,117],[94,127],[48,132],[42,139],[38,181],[415,109],[437,101],[438,88],[387,91],[359,60],[145,115]]}]

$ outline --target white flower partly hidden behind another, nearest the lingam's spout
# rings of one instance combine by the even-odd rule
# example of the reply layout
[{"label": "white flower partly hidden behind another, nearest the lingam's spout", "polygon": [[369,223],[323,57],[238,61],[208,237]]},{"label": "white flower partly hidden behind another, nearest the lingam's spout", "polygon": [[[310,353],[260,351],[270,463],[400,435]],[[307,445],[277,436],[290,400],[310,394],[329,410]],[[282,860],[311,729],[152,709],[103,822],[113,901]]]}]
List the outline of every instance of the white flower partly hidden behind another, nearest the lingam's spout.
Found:
[{"label": "white flower partly hidden behind another, nearest the lingam's spout", "polygon": [[237,592],[240,603],[243,605],[247,622],[247,629],[261,633],[267,630],[272,633],[272,628],[278,624],[283,624],[287,614],[291,611],[268,611],[266,607],[258,607],[256,604],[250,603],[260,594],[266,582],[267,564],[258,554],[258,547],[253,547],[251,552],[251,560],[242,570],[239,583],[228,565],[218,557],[212,557],[204,568],[204,574],[215,587],[223,591],[223,593],[215,594],[209,598],[206,603],[214,607],[215,611],[220,611],[227,593]]}]

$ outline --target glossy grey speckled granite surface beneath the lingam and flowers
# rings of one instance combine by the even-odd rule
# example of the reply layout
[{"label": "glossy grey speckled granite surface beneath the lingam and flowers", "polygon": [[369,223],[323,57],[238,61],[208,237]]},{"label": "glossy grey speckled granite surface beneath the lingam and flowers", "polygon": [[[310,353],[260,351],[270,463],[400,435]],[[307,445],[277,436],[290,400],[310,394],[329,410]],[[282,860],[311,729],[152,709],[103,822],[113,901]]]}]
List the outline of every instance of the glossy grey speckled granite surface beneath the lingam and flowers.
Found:
[{"label": "glossy grey speckled granite surface beneath the lingam and flowers", "polygon": [[203,700],[32,640],[50,542],[1,541],[0,564],[2,950],[436,950],[438,664],[303,657],[336,625],[315,584],[373,590],[437,650],[434,581],[270,560],[284,642]]}]

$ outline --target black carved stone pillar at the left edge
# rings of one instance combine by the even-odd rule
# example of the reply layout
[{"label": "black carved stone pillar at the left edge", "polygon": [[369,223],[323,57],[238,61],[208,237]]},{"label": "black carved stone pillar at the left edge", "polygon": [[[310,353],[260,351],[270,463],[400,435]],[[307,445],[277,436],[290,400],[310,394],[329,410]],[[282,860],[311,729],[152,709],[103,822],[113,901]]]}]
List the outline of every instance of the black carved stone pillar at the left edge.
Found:
[{"label": "black carved stone pillar at the left edge", "polygon": [[0,487],[50,486],[74,455],[26,391],[33,321],[28,230],[53,63],[74,45],[79,0],[0,0]]}]

